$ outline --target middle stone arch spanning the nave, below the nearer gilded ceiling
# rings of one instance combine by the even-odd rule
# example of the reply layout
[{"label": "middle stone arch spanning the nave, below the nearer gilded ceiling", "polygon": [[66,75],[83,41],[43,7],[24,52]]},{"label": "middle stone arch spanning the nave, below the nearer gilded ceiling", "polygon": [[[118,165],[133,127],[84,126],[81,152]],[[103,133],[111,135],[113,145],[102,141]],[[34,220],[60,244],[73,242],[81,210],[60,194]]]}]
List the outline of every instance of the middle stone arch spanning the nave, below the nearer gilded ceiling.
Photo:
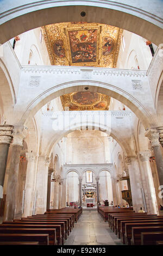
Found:
[{"label": "middle stone arch spanning the nave, below the nearer gilded ceiling", "polygon": [[28,121],[29,118],[32,118],[41,107],[55,99],[55,97],[72,92],[84,91],[85,86],[89,86],[89,92],[100,92],[121,101],[135,113],[145,127],[149,127],[149,124],[156,126],[155,120],[149,111],[134,96],[112,84],[97,81],[72,81],[46,90],[27,106],[26,112],[24,112],[20,120],[20,124],[23,125],[26,120]]}]

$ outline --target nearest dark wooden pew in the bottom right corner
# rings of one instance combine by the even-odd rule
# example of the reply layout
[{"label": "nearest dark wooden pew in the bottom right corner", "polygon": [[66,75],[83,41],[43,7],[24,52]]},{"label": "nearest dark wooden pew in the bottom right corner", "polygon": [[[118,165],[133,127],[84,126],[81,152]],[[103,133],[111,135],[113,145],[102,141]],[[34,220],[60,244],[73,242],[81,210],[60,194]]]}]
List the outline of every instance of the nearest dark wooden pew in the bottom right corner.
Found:
[{"label": "nearest dark wooden pew in the bottom right corner", "polygon": [[163,241],[163,232],[142,232],[141,245],[156,245],[156,241]]}]

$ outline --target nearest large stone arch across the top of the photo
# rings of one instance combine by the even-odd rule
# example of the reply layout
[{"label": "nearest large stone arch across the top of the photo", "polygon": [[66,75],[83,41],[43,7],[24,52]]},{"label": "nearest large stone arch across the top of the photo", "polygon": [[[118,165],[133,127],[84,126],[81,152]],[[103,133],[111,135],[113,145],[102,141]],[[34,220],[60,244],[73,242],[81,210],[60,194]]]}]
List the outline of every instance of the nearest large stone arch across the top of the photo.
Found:
[{"label": "nearest large stone arch across the top of the photo", "polygon": [[[23,5],[18,3],[17,6],[10,7],[10,10],[5,7],[4,5],[2,9],[4,12],[1,14],[1,44],[30,29],[67,21],[98,22],[121,26],[127,31],[153,41],[156,45],[162,42],[161,17],[157,16],[159,12],[151,14],[148,7],[145,8],[148,11],[143,8],[140,10],[139,3],[135,7],[115,1],[79,1],[78,5],[74,5],[73,1],[39,1]],[[161,5],[159,7],[161,8]],[[85,17],[80,15],[82,11],[85,11]]]}]

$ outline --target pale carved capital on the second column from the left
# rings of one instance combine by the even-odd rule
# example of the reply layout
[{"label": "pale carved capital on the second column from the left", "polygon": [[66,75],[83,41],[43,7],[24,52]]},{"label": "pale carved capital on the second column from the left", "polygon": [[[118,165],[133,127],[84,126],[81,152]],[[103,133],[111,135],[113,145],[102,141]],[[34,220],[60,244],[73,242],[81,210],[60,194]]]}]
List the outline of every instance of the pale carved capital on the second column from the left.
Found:
[{"label": "pale carved capital on the second column from the left", "polygon": [[23,147],[23,140],[26,138],[27,130],[24,127],[18,127],[13,130],[12,145]]}]

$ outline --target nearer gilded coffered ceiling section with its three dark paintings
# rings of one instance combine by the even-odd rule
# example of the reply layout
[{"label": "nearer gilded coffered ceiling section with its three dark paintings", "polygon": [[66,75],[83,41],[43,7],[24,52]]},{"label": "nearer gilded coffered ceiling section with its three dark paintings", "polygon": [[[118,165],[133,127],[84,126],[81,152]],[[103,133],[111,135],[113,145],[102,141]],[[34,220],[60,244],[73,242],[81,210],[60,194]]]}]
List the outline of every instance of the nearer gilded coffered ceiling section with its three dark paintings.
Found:
[{"label": "nearer gilded coffered ceiling section with its three dark paintings", "polygon": [[52,65],[116,68],[122,29],[87,22],[42,27]]}]

